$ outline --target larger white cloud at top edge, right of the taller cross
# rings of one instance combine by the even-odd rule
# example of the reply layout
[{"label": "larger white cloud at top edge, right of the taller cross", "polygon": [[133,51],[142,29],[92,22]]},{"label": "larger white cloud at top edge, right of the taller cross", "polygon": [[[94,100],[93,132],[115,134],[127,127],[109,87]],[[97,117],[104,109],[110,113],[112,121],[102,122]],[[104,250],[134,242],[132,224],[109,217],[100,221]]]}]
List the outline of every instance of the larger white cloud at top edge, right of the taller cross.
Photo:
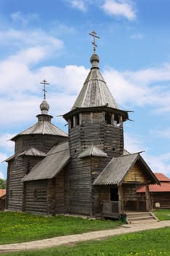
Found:
[{"label": "larger white cloud at top edge, right of the taller cross", "polygon": [[134,20],[136,18],[130,1],[105,0],[102,8],[109,15],[123,16],[128,20]]}]

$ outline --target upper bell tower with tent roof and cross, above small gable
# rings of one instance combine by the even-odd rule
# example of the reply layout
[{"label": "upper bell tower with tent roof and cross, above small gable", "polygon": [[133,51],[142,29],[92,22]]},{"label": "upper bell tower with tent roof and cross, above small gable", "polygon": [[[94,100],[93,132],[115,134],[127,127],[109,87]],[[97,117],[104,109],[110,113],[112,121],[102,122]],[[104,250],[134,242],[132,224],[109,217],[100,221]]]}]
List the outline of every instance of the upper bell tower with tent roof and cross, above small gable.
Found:
[{"label": "upper bell tower with tent roof and cross, above small gable", "polygon": [[63,115],[69,122],[71,155],[80,154],[93,144],[108,154],[109,159],[123,154],[123,122],[128,112],[117,107],[115,99],[99,69],[96,54],[96,32],[93,35],[91,68],[72,110]]}]

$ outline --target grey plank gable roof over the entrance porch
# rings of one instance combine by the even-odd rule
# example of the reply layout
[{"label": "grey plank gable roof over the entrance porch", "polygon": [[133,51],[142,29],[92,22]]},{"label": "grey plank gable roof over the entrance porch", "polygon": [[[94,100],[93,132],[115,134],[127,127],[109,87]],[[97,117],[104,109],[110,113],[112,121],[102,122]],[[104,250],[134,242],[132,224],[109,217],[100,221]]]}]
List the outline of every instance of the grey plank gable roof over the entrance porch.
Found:
[{"label": "grey plank gable roof over the entrance porch", "polygon": [[128,174],[128,171],[134,166],[137,160],[142,162],[144,169],[147,170],[147,173],[149,173],[150,177],[152,178],[152,183],[159,184],[158,179],[154,176],[152,170],[150,170],[150,167],[146,164],[146,162],[144,162],[144,159],[139,153],[135,153],[127,154],[122,157],[113,157],[107,167],[105,167],[98,178],[96,178],[93,185],[118,186],[122,184],[125,176]]}]

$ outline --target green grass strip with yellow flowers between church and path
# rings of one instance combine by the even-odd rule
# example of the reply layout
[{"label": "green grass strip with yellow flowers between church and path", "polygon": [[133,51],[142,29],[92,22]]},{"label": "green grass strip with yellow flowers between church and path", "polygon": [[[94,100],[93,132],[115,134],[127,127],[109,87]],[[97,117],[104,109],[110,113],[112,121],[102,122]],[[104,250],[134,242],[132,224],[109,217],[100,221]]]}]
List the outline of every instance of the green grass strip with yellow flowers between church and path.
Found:
[{"label": "green grass strip with yellow flowers between church and path", "polygon": [[0,244],[34,241],[55,236],[85,233],[117,227],[119,221],[78,217],[43,217],[34,214],[0,211]]}]

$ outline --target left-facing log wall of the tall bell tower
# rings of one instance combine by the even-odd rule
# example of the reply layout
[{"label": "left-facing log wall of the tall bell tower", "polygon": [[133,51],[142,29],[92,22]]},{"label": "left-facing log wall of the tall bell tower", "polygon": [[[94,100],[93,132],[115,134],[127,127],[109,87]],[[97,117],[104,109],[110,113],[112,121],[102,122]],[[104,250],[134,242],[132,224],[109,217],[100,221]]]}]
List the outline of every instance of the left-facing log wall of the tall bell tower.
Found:
[{"label": "left-facing log wall of the tall bell tower", "polygon": [[90,159],[78,158],[82,151],[80,129],[80,127],[74,127],[69,131],[69,148],[72,161],[69,165],[68,174],[65,176],[66,211],[72,214],[91,215]]}]

